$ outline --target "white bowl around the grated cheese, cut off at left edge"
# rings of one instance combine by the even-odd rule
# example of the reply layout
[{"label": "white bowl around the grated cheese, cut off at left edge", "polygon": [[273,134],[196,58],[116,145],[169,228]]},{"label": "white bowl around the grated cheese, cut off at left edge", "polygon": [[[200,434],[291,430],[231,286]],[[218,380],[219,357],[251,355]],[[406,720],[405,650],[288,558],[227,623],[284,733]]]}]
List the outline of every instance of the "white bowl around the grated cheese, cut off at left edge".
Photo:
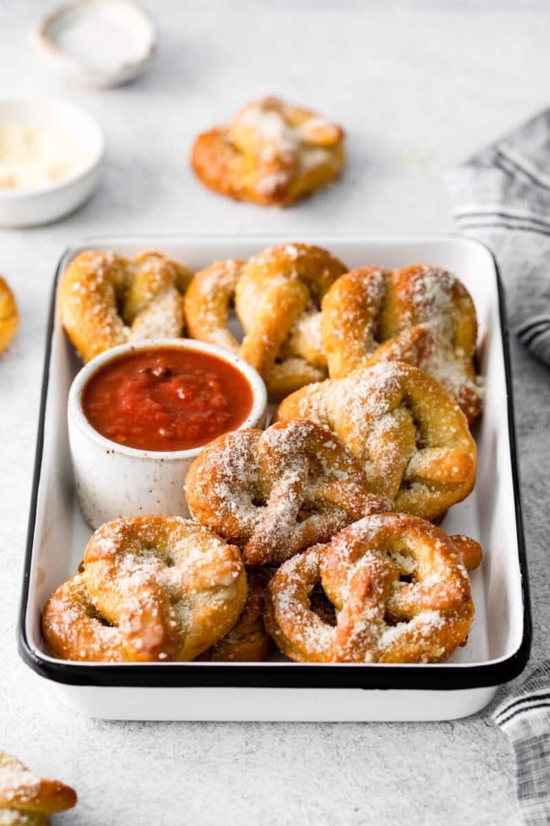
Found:
[{"label": "white bowl around the grated cheese, cut off at left edge", "polygon": [[63,101],[0,100],[0,124],[7,122],[41,126],[71,135],[88,160],[78,173],[45,186],[0,188],[0,226],[49,224],[87,201],[96,188],[105,155],[105,138],[95,118]]}]

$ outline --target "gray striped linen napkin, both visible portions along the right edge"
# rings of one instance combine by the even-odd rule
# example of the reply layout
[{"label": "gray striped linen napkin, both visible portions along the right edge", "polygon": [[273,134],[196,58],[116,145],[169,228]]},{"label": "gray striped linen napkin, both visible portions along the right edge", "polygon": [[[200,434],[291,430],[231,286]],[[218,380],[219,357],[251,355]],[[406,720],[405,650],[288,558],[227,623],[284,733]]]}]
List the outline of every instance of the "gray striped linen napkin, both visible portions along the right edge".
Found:
[{"label": "gray striped linen napkin, both visible portions along the right edge", "polygon": [[[550,110],[446,178],[458,225],[496,256],[519,341],[550,364]],[[519,407],[524,414],[521,398]],[[493,720],[514,747],[524,823],[550,824],[550,662],[509,691]]]}]

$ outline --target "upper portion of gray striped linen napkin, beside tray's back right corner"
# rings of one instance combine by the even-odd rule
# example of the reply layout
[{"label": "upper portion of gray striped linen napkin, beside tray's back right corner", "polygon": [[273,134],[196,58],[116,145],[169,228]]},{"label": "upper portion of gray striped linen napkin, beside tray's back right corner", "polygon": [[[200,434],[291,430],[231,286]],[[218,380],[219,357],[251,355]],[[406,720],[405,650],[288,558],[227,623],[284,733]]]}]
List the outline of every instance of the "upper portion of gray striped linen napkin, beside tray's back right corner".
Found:
[{"label": "upper portion of gray striped linen napkin, beside tray's back right corner", "polygon": [[550,364],[550,110],[453,169],[447,182],[458,226],[496,255],[515,333]]}]

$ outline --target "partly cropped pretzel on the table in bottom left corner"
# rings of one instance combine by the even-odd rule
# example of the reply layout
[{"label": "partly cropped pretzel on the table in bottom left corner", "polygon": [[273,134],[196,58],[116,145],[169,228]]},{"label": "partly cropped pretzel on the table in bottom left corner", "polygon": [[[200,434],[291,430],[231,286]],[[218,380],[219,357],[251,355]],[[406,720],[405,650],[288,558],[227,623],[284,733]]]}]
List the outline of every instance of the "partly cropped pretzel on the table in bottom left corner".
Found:
[{"label": "partly cropped pretzel on the table in bottom left corner", "polygon": [[47,826],[50,814],[71,809],[76,802],[70,786],[37,777],[16,757],[0,751],[0,824]]}]

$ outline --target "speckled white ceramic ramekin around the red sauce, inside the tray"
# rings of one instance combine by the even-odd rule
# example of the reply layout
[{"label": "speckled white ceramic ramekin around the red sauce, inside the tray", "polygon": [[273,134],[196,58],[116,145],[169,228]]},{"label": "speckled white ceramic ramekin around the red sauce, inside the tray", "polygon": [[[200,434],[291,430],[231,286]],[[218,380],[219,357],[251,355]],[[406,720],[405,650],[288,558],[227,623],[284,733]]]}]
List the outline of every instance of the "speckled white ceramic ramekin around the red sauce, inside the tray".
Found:
[{"label": "speckled white ceramic ramekin around the red sauce, inside the tray", "polygon": [[82,409],[84,388],[104,364],[124,354],[165,347],[212,354],[232,364],[247,378],[252,390],[250,415],[239,430],[265,425],[267,393],[259,373],[240,356],[214,344],[194,339],[148,339],[120,344],[92,358],[75,377],[68,393],[68,438],[78,500],[84,519],[94,529],[121,516],[190,516],[183,485],[201,447],[166,453],[129,448],[98,433]]}]

